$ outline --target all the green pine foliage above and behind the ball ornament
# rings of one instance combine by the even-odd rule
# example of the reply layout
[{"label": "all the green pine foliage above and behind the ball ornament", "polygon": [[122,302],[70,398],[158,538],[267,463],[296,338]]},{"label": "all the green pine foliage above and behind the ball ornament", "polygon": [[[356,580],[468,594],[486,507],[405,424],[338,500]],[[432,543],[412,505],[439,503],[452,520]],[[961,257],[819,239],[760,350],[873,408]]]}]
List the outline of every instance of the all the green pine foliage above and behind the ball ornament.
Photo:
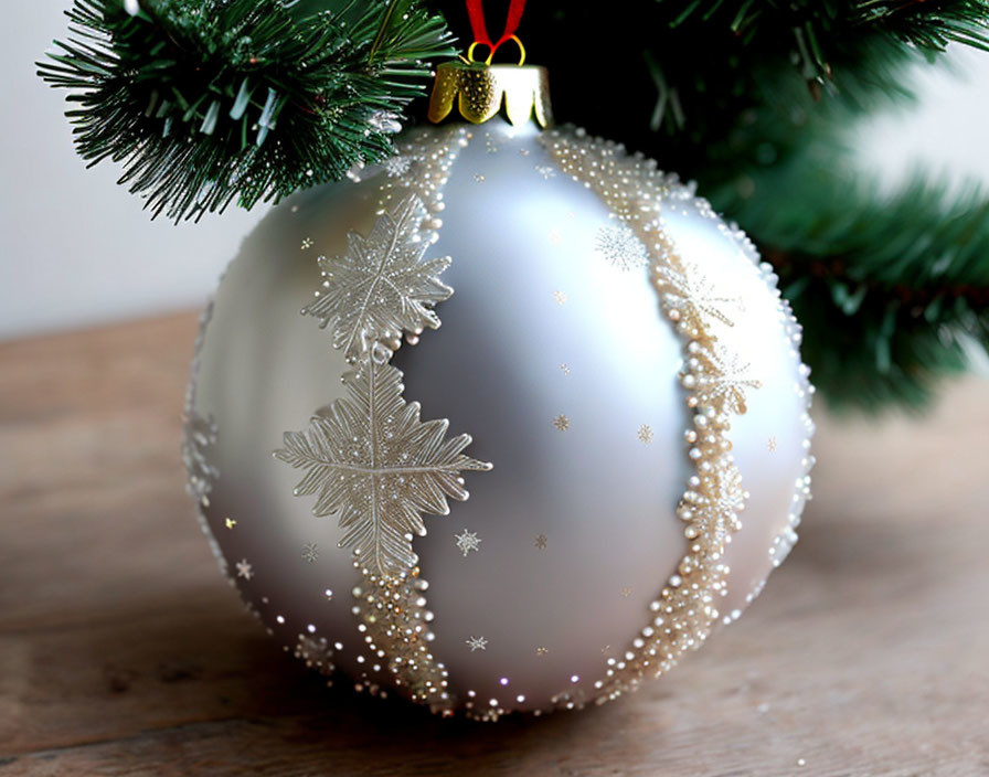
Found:
[{"label": "all the green pine foliage above and behind the ball ornament", "polygon": [[[422,0],[426,2],[427,0]],[[470,40],[462,0],[74,0],[41,74],[81,153],[174,219],[277,200],[391,152],[428,61]],[[488,2],[501,29],[506,3]],[[334,10],[326,10],[332,7]],[[989,196],[882,194],[844,148],[905,68],[989,47],[989,0],[530,2],[519,31],[555,114],[695,179],[749,234],[831,404],[918,405],[989,347]],[[422,111],[411,111],[415,117]]]}]

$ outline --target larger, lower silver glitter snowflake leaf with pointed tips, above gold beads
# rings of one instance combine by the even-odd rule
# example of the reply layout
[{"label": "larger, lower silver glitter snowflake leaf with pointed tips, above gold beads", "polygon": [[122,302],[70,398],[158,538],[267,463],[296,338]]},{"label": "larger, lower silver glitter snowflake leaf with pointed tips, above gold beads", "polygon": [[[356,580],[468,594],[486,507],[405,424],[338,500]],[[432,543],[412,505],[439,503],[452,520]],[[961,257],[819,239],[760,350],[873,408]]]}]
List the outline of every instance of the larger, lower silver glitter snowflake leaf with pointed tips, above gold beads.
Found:
[{"label": "larger, lower silver glitter snowflake leaf with pointed tips, above gold beads", "polygon": [[396,368],[365,359],[343,383],[348,395],[307,430],[286,432],[275,457],[306,471],[295,494],[317,494],[313,515],[339,515],[340,546],[393,578],[418,560],[412,537],[426,533],[422,513],[448,514],[447,497],[468,497],[460,470],[491,465],[462,454],[470,435],[447,438],[448,421],[419,421],[419,404],[402,398]]}]

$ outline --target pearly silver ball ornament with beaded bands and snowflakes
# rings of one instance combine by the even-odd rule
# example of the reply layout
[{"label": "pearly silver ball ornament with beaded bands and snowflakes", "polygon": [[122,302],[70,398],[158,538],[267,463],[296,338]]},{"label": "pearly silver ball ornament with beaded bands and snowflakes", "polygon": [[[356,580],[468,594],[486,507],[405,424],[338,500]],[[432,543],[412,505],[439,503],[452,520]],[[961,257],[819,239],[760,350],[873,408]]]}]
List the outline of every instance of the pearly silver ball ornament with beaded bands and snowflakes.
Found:
[{"label": "pearly silver ball ornament with beaded bands and snowflakes", "polygon": [[796,540],[799,327],[745,236],[620,146],[498,117],[396,145],[224,275],[183,446],[203,528],[358,689],[489,720],[614,699]]}]

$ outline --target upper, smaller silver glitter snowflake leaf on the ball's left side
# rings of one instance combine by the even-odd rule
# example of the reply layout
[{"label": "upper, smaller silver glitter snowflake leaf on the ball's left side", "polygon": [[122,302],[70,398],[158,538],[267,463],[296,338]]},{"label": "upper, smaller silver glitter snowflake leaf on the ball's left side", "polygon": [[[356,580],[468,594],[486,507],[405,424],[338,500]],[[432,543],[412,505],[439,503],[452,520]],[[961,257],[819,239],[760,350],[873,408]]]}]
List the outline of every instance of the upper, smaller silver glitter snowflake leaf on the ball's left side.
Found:
[{"label": "upper, smaller silver glitter snowflake leaf on the ball's left side", "polygon": [[423,201],[410,192],[382,213],[366,237],[347,235],[343,256],[320,257],[323,289],[302,313],[333,324],[333,348],[350,363],[375,342],[398,348],[402,332],[436,329],[433,306],[454,290],[439,280],[450,257],[424,259],[430,245],[419,225],[426,219]]}]

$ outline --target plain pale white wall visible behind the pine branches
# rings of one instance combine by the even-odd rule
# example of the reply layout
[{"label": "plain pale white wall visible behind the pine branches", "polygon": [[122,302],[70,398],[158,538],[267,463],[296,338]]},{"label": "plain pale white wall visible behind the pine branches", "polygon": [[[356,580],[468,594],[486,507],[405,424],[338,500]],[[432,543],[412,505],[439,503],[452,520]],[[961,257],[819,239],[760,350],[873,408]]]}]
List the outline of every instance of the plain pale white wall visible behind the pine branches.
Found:
[{"label": "plain pale white wall visible behind the pine branches", "polygon": [[[265,209],[199,224],[149,221],[72,148],[64,94],[34,62],[65,31],[70,0],[4,3],[0,31],[0,339],[148,316],[202,304]],[[916,109],[855,128],[863,164],[889,187],[923,166],[989,181],[989,54],[953,52],[957,74],[919,68]]]}]

